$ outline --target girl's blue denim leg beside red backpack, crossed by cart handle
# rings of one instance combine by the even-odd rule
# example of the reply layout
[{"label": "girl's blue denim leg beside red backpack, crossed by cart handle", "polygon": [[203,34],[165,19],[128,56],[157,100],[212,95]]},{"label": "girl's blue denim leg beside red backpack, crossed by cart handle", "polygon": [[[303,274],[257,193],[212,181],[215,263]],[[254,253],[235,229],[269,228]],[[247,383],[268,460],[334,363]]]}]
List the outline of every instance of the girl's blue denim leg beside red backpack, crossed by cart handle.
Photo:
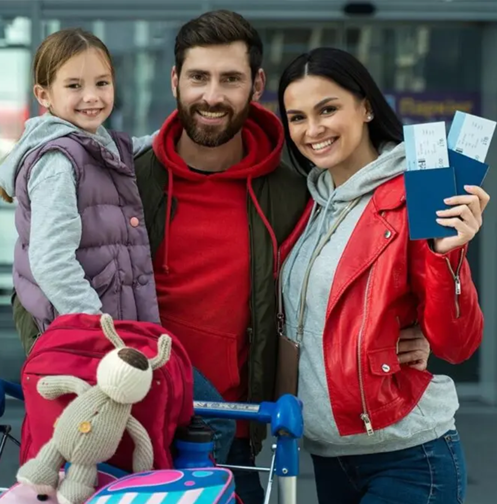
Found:
[{"label": "girl's blue denim leg beside red backpack, crossed by cart handle", "polygon": [[[196,401],[222,402],[215,387],[196,368],[193,368],[193,398]],[[235,437],[235,420],[204,418],[204,422],[214,433],[214,459],[217,464],[226,464],[233,438]]]}]

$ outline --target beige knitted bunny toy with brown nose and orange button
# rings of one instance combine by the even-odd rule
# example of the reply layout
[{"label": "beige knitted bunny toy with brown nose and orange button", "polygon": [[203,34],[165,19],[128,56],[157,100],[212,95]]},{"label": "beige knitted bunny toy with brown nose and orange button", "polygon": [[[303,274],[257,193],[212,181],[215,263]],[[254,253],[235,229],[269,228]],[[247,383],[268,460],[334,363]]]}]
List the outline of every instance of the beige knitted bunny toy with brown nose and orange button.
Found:
[{"label": "beige knitted bunny toy with brown nose and orange button", "polygon": [[[94,493],[97,464],[115,454],[125,430],[135,444],[133,471],[149,471],[153,466],[150,437],[131,415],[131,407],[148,394],[153,369],[169,360],[171,338],[160,336],[158,353],[148,360],[125,346],[111,316],[103,314],[100,325],[116,349],[99,362],[95,386],[75,376],[46,376],[37,384],[45,399],[77,395],[56,421],[52,438],[17,473],[17,481],[33,487],[39,495],[57,492],[59,504],[82,504]],[[59,484],[59,470],[65,461],[71,465]]]}]

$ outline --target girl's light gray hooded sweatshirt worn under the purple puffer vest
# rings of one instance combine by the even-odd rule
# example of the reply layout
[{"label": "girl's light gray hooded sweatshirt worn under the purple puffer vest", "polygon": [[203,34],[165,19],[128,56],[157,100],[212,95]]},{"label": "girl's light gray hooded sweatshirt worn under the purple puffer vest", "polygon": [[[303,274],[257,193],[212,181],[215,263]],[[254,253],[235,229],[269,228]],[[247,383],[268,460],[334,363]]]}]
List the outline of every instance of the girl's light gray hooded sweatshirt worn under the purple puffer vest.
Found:
[{"label": "girl's light gray hooded sweatshirt worn under the purple puffer vest", "polygon": [[[120,157],[103,126],[92,135],[46,113],[26,121],[23,136],[0,164],[0,187],[14,197],[16,173],[26,156],[51,140],[74,132],[91,137]],[[134,156],[151,147],[156,133],[132,139]],[[60,151],[44,154],[31,170],[28,195],[32,210],[29,264],[36,283],[59,314],[99,313],[102,304],[98,294],[84,278],[85,272],[76,260],[82,227],[71,161]],[[54,229],[57,233],[50,232]]]}]

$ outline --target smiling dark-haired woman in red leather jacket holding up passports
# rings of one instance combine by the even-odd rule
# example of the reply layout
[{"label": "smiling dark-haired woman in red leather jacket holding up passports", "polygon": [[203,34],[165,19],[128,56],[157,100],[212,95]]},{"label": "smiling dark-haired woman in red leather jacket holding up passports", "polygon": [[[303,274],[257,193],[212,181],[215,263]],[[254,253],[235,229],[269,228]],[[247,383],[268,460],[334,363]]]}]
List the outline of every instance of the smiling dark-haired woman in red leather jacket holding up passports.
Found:
[{"label": "smiling dark-haired woman in red leather jacket holding up passports", "polygon": [[449,362],[478,347],[483,320],[465,255],[489,197],[467,187],[437,213],[457,236],[409,240],[402,124],[347,52],[319,48],[296,58],[281,78],[279,104],[314,200],[281,284],[285,334],[300,343],[299,397],[318,500],[463,502],[454,383],[401,366],[396,342],[417,321]]}]

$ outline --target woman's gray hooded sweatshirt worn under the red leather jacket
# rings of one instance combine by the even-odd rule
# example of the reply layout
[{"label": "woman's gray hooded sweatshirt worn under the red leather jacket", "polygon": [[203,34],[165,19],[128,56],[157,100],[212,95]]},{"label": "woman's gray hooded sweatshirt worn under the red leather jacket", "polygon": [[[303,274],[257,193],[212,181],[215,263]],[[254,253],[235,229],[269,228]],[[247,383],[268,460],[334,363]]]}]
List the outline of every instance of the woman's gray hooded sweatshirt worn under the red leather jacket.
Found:
[{"label": "woman's gray hooded sweatshirt worn under the red leather jacket", "polygon": [[282,271],[285,330],[292,340],[296,340],[303,279],[313,251],[341,211],[360,198],[314,261],[305,297],[299,398],[304,404],[304,447],[314,455],[335,457],[402,450],[427,443],[454,428],[459,403],[454,382],[448,376],[434,376],[409,415],[394,425],[375,430],[371,436],[367,433],[341,436],[328,395],[322,337],[337,265],[375,188],[405,169],[404,144],[387,144],[375,161],[337,188],[327,170],[314,168],[308,176],[313,211]]}]

